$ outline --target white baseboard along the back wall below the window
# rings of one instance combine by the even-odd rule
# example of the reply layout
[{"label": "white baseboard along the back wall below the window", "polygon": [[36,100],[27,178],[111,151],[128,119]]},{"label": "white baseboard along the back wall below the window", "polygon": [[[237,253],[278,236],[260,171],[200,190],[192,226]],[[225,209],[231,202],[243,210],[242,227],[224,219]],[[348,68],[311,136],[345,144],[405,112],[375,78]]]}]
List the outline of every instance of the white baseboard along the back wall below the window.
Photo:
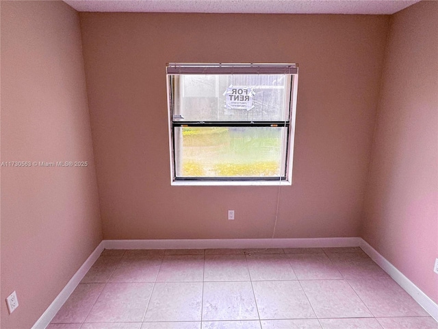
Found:
[{"label": "white baseboard along the back wall below the window", "polygon": [[106,249],[359,247],[361,238],[104,240]]}]

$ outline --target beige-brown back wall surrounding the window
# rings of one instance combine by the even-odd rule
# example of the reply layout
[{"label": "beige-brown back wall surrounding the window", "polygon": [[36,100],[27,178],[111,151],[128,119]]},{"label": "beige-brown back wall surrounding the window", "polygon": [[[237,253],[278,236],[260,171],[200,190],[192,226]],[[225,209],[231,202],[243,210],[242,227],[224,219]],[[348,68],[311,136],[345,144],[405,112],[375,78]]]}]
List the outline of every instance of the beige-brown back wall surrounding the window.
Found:
[{"label": "beige-brown back wall surrounding the window", "polygon": [[105,239],[272,234],[278,187],[170,186],[166,62],[297,62],[276,237],[359,235],[389,17],[79,16]]}]

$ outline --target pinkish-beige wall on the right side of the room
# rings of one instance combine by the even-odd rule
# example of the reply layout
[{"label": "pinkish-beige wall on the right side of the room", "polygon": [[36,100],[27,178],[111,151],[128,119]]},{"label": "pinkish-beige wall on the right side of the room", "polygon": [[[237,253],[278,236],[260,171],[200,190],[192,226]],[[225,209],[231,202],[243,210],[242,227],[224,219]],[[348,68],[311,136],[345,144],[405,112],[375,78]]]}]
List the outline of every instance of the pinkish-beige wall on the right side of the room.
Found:
[{"label": "pinkish-beige wall on the right side of the room", "polygon": [[391,16],[363,238],[438,302],[438,2]]}]

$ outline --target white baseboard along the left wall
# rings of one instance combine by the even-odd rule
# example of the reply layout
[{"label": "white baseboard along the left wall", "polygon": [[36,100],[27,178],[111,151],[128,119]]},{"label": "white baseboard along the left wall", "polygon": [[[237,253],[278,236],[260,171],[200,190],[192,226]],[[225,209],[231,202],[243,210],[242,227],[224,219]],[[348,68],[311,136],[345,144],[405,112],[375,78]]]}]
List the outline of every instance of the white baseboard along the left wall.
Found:
[{"label": "white baseboard along the left wall", "polygon": [[44,329],[49,326],[50,321],[52,321],[53,317],[55,317],[57,311],[60,310],[62,305],[64,305],[66,300],[68,300],[68,297],[70,297],[71,293],[73,293],[73,291],[76,289],[77,285],[79,284],[79,282],[81,282],[90,267],[92,267],[97,258],[99,258],[101,252],[103,252],[104,249],[103,245],[103,241],[99,243],[96,249],[94,249],[94,252],[92,252],[92,254],[87,258],[85,263],[83,263],[83,265],[79,267],[75,275],[66,284],[66,287],[64,287],[59,295],[57,295],[55,300],[53,300],[47,310],[42,313],[40,319],[36,321],[31,329]]}]

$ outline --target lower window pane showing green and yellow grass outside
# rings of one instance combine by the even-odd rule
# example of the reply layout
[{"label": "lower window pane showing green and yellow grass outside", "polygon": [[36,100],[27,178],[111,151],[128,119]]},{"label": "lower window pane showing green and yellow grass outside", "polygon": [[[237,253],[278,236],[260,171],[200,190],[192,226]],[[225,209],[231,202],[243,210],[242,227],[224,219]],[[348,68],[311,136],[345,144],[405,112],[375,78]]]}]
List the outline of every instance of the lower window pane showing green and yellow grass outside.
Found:
[{"label": "lower window pane showing green and yellow grass outside", "polygon": [[178,177],[285,175],[285,127],[177,127]]}]

